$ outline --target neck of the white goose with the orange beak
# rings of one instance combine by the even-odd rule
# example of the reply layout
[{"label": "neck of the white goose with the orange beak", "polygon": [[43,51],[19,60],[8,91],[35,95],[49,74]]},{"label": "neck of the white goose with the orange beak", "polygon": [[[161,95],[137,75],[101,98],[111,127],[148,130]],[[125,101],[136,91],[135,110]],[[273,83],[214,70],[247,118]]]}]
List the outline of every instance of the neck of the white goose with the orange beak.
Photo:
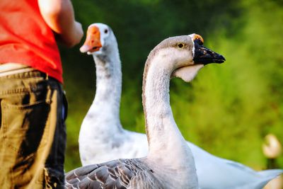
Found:
[{"label": "neck of the white goose with the orange beak", "polygon": [[93,58],[96,63],[96,96],[88,113],[95,115],[98,122],[120,127],[122,73],[119,52],[116,49],[107,56]]}]

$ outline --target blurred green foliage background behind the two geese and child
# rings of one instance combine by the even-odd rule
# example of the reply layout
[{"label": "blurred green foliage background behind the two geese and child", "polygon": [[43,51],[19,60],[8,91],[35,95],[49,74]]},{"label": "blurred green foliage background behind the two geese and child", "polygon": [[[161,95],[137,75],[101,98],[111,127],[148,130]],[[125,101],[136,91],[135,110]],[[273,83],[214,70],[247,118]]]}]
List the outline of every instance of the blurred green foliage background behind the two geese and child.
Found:
[{"label": "blurred green foliage background behind the two geese and child", "polygon": [[[147,55],[161,40],[198,33],[204,45],[226,57],[204,67],[192,83],[171,81],[171,106],[185,139],[210,153],[266,168],[262,142],[268,133],[283,143],[282,0],[73,0],[84,31],[106,23],[122,59],[121,121],[144,132],[141,81]],[[81,41],[81,44],[85,37]],[[66,171],[81,166],[78,137],[96,88],[91,56],[60,47],[69,100]],[[277,159],[283,168],[283,156]]]}]

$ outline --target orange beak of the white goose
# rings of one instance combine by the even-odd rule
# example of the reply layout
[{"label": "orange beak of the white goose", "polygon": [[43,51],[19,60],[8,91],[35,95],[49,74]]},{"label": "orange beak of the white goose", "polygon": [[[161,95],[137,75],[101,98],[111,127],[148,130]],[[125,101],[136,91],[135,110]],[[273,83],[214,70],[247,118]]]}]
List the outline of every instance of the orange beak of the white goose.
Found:
[{"label": "orange beak of the white goose", "polygon": [[100,31],[97,26],[91,26],[86,33],[86,41],[81,46],[81,52],[96,52],[102,47],[100,42]]}]

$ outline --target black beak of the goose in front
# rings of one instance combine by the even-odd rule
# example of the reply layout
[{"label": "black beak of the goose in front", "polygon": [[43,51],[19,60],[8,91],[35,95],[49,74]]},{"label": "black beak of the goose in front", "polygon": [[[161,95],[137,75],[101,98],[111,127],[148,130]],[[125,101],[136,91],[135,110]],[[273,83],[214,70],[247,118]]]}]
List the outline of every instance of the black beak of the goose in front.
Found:
[{"label": "black beak of the goose in front", "polygon": [[226,59],[219,55],[218,53],[209,50],[207,47],[204,47],[202,42],[198,39],[194,40],[195,42],[195,55],[193,61],[196,64],[209,64],[209,63],[223,63]]}]

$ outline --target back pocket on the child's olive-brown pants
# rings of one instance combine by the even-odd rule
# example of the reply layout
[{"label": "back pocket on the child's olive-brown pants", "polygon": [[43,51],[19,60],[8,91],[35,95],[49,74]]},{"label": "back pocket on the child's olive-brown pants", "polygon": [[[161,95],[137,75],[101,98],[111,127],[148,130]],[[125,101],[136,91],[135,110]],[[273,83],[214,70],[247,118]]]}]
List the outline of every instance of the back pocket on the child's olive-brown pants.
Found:
[{"label": "back pocket on the child's olive-brown pants", "polygon": [[37,101],[29,105],[10,105],[2,101],[2,127],[8,151],[29,155],[36,151],[47,123],[50,103]]}]

